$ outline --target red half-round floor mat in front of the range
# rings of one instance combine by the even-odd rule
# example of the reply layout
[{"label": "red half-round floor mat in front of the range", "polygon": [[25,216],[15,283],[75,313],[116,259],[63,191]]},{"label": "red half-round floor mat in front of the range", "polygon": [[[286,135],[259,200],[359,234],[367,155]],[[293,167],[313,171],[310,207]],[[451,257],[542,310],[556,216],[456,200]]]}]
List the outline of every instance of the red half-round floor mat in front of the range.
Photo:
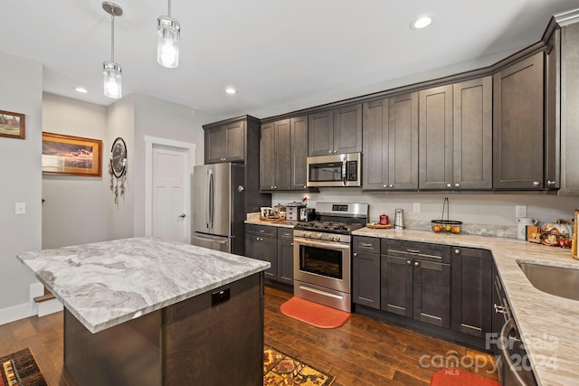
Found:
[{"label": "red half-round floor mat in front of the range", "polygon": [[280,306],[280,311],[283,315],[319,328],[336,328],[344,325],[352,317],[350,313],[318,305],[300,297],[291,297]]}]

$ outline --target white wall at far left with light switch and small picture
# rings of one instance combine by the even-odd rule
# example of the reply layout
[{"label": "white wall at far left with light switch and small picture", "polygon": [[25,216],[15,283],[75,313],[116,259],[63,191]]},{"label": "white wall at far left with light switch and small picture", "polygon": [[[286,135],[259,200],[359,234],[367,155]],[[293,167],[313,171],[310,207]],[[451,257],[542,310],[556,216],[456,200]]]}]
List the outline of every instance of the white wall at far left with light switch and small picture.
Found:
[{"label": "white wall at far left with light switch and small picture", "polygon": [[[26,138],[0,137],[0,323],[28,316],[29,286],[36,282],[16,253],[41,249],[41,63],[0,53],[0,109],[23,113]],[[14,215],[25,202],[26,214]]]}]

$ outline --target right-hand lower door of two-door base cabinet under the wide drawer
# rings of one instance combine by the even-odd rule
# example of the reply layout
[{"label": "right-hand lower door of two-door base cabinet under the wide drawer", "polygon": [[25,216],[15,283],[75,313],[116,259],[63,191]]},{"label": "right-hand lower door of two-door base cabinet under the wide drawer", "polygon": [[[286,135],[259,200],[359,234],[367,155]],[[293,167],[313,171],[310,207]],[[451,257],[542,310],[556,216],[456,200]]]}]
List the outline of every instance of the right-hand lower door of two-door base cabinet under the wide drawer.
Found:
[{"label": "right-hand lower door of two-door base cabinet under the wide drawer", "polygon": [[451,327],[451,266],[413,261],[413,316],[431,325]]}]

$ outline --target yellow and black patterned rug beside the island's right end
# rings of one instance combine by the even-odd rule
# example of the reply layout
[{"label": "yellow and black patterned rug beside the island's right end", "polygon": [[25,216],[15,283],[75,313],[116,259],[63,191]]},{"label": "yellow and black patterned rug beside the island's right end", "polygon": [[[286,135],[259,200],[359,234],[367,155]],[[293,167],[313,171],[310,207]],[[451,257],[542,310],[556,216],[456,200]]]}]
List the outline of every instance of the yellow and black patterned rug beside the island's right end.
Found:
[{"label": "yellow and black patterned rug beside the island's right end", "polygon": [[264,386],[329,386],[335,379],[268,345],[263,347]]}]

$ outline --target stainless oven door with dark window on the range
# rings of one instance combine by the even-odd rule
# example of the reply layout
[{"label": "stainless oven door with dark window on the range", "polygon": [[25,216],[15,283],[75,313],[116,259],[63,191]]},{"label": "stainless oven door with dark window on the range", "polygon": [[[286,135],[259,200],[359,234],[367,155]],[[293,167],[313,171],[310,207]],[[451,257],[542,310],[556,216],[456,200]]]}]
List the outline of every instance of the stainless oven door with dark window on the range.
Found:
[{"label": "stainless oven door with dark window on the range", "polygon": [[294,280],[350,293],[350,244],[293,239]]}]

